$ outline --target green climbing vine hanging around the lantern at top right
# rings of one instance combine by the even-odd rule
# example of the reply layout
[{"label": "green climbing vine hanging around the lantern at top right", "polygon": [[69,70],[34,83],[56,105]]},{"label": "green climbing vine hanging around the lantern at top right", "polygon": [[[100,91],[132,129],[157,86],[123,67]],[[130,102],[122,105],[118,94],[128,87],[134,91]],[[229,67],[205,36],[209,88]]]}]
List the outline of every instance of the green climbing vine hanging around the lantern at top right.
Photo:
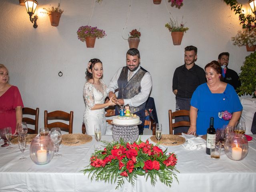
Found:
[{"label": "green climbing vine hanging around the lantern at top right", "polygon": [[239,4],[237,0],[223,0],[227,5],[230,5],[231,10],[234,10],[235,14],[239,14],[240,24],[243,29],[249,31],[256,28],[256,18],[252,15],[245,15],[242,10],[242,4]]}]

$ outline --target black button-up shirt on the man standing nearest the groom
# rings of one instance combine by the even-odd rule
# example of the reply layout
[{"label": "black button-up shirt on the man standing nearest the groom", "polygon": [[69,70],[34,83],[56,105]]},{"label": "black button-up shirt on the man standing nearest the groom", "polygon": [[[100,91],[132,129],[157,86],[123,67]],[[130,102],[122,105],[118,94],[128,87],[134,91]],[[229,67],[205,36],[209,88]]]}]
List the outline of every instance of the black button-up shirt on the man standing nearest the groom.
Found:
[{"label": "black button-up shirt on the man standing nearest the groom", "polygon": [[176,68],[172,78],[172,90],[178,90],[178,97],[191,98],[194,90],[206,82],[205,72],[198,65],[188,70],[184,65]]}]

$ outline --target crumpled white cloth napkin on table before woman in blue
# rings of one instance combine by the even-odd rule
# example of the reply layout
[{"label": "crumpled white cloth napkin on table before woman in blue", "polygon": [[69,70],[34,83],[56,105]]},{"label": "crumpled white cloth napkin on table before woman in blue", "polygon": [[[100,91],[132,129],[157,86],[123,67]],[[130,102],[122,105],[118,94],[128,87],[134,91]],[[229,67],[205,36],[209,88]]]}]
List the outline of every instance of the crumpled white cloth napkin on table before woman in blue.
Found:
[{"label": "crumpled white cloth napkin on table before woman in blue", "polygon": [[206,140],[201,137],[195,137],[194,135],[188,135],[182,133],[182,136],[188,141],[188,143],[182,144],[182,146],[189,150],[200,150],[206,148]]}]

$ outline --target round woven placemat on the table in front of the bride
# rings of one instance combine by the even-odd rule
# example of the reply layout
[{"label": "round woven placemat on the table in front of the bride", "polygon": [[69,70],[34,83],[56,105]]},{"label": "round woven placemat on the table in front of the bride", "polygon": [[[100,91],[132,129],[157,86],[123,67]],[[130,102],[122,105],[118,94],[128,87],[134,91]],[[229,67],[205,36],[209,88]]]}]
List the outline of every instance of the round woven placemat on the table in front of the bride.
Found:
[{"label": "round woven placemat on the table in front of the bride", "polygon": [[92,141],[92,136],[80,133],[62,135],[61,144],[78,146]]}]

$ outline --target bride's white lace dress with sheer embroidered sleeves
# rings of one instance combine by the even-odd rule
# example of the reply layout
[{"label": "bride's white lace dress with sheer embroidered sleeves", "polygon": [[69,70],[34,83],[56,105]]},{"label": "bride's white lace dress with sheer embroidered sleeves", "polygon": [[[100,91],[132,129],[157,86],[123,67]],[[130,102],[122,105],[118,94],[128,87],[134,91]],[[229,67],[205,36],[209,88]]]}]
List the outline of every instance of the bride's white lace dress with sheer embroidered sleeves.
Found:
[{"label": "bride's white lace dress with sheer embroidered sleeves", "polygon": [[94,85],[90,82],[84,84],[84,100],[85,100],[85,111],[84,111],[84,124],[86,127],[86,133],[88,135],[94,135],[94,125],[100,124],[101,134],[106,133],[106,117],[105,110],[97,109],[91,110],[95,104],[103,104],[107,96],[107,86],[105,82],[100,79],[100,85]]}]

